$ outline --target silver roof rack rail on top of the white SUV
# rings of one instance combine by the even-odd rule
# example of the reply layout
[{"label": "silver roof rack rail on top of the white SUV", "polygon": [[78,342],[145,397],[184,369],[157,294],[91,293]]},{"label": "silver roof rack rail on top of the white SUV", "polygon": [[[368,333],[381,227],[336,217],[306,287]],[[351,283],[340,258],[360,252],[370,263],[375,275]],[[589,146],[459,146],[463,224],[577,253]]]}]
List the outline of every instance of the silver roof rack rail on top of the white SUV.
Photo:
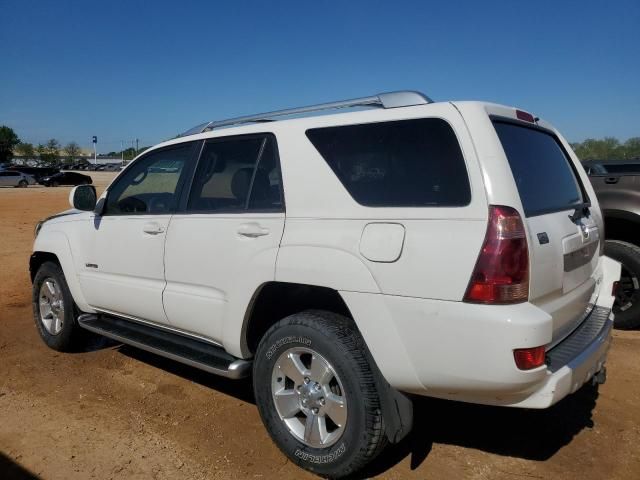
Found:
[{"label": "silver roof rack rail on top of the white SUV", "polygon": [[180,134],[180,137],[195,135],[196,133],[204,133],[214,128],[228,127],[230,125],[239,125],[241,123],[269,122],[273,117],[282,117],[286,115],[299,115],[302,113],[319,112],[322,110],[333,110],[337,108],[352,107],[378,107],[378,108],[396,108],[409,107],[412,105],[425,105],[433,103],[429,97],[420,92],[410,90],[387,92],[372,95],[370,97],[354,98],[351,100],[340,100],[337,102],[319,103],[317,105],[308,105],[306,107],[288,108],[286,110],[275,110],[273,112],[259,113],[256,115],[246,115],[243,117],[229,118],[226,120],[214,120],[197,125],[186,132]]}]

